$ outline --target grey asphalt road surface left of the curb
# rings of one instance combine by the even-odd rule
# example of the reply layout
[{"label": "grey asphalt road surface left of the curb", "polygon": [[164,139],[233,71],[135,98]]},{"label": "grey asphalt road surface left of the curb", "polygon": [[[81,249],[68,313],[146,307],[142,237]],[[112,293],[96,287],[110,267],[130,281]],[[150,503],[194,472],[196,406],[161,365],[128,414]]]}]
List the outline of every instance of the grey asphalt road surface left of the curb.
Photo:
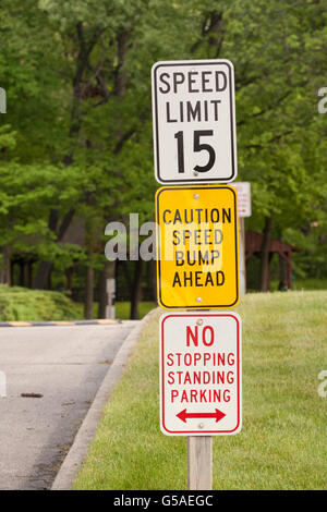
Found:
[{"label": "grey asphalt road surface left of the curb", "polygon": [[0,329],[0,371],[7,380],[7,397],[0,392],[0,490],[51,487],[134,326]]}]

